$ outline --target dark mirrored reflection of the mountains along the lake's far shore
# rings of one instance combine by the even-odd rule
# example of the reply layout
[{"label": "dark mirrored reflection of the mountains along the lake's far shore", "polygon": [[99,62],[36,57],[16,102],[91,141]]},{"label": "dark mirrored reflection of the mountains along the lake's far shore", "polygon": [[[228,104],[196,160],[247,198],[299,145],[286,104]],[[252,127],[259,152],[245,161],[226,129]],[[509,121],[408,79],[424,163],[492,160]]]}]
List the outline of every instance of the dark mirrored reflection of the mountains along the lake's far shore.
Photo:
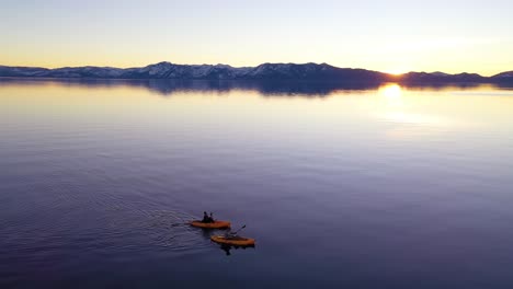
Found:
[{"label": "dark mirrored reflection of the mountains along the lake's far shore", "polygon": [[[303,95],[303,96],[326,96],[337,92],[350,91],[366,91],[379,90],[383,93],[397,92],[398,84],[385,84],[387,90],[383,91],[384,85],[369,82],[295,82],[295,81],[198,81],[198,80],[116,80],[116,79],[38,79],[38,78],[0,78],[1,85],[12,84],[23,85],[48,85],[58,84],[60,86],[82,86],[91,89],[101,88],[144,88],[156,92],[160,95],[171,96],[179,92],[205,92],[215,91],[229,92],[232,90],[258,91],[263,96],[285,96],[285,95]],[[478,84],[478,83],[435,83],[435,84],[408,84],[409,88],[417,90],[451,90],[451,89],[476,89],[476,88],[494,88],[510,89],[509,84]]]}]

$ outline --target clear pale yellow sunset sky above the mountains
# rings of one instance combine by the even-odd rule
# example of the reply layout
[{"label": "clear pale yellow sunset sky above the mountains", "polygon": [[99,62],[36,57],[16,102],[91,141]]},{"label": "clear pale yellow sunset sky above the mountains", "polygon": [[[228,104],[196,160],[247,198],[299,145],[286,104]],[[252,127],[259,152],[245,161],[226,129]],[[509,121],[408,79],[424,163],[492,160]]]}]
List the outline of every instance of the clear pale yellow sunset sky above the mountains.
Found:
[{"label": "clear pale yellow sunset sky above the mountains", "polygon": [[506,0],[0,0],[0,65],[513,70]]}]

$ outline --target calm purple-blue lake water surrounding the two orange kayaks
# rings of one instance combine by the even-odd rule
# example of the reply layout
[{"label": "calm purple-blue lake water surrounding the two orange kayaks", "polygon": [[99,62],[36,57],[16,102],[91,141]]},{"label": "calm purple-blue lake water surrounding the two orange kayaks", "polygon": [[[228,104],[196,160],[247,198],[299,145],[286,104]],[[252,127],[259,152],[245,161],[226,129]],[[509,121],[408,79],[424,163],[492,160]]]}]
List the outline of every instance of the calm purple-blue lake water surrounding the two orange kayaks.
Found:
[{"label": "calm purple-blue lake water surrounding the two orange kayaks", "polygon": [[1,288],[511,289],[513,90],[3,79],[0,236]]}]

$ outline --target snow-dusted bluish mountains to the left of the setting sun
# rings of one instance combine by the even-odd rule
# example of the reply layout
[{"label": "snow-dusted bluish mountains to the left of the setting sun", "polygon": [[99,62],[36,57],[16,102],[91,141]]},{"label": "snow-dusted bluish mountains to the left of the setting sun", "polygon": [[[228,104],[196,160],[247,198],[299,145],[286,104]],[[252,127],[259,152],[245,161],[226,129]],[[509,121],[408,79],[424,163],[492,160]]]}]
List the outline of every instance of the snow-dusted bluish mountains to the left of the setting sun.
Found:
[{"label": "snow-dusted bluish mountains to the left of the setting sun", "polygon": [[206,80],[384,80],[385,73],[343,69],[327,63],[263,63],[236,68],[227,65],[174,65],[159,62],[142,68],[0,67],[0,77],[100,78],[100,79],[206,79]]}]

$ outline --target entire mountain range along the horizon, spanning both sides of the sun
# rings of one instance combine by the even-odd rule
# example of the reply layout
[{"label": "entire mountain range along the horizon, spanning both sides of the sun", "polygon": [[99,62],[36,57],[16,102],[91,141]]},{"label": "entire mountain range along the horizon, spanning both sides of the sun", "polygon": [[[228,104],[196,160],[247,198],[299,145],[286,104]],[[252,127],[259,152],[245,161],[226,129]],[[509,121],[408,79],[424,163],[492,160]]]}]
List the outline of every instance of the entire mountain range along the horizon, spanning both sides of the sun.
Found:
[{"label": "entire mountain range along the horizon, spanning both sides of the sun", "polygon": [[263,63],[256,67],[227,65],[175,65],[159,62],[146,67],[39,67],[0,66],[0,77],[86,79],[175,79],[175,80],[293,80],[328,82],[401,83],[513,83],[513,71],[492,77],[477,73],[408,72],[400,76],[328,63]]}]

